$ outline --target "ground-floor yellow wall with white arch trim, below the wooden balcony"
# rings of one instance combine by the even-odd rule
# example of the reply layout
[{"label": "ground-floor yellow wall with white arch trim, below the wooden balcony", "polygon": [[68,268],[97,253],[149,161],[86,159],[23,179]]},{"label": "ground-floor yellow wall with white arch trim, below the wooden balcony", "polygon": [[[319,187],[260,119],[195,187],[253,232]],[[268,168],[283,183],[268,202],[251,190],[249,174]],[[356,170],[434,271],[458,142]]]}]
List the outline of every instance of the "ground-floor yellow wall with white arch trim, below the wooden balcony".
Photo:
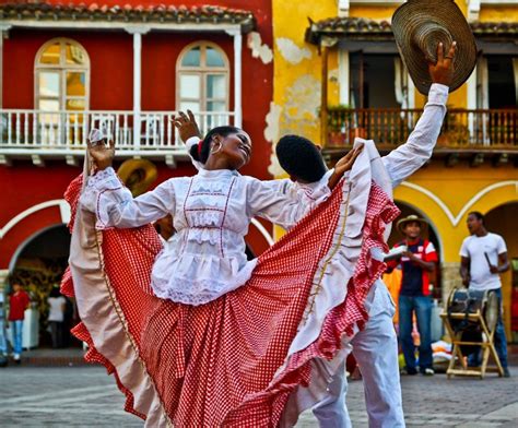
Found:
[{"label": "ground-floor yellow wall with white arch trim, below the wooden balcony", "polygon": [[[395,200],[425,216],[437,234],[443,269],[449,266],[454,270],[448,273],[454,276],[454,282],[443,281],[443,297],[448,295],[452,285],[460,285],[457,274],[459,250],[469,235],[466,221],[470,212],[490,214],[488,230],[504,237],[509,260],[518,258],[518,169],[513,165],[495,168],[485,163],[471,168],[459,164],[447,168],[442,159],[434,158],[429,166],[396,188]],[[503,209],[503,205],[507,206]],[[497,210],[495,215],[492,213],[494,210]],[[510,272],[502,275],[502,284],[506,328],[510,336]]]}]

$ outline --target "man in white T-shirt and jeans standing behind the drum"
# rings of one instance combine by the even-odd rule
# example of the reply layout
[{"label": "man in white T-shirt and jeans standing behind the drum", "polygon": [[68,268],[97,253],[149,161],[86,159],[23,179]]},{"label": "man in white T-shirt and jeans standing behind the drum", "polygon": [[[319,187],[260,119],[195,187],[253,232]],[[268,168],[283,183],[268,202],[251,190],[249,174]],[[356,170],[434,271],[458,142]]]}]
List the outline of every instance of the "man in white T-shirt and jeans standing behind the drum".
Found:
[{"label": "man in white T-shirt and jeans standing behind the drum", "polygon": [[[484,216],[478,211],[468,214],[468,229],[471,234],[460,248],[460,275],[462,284],[470,289],[492,290],[498,298],[498,321],[494,335],[495,348],[498,354],[504,376],[508,378],[507,338],[502,320],[502,282],[501,273],[509,270],[507,247],[504,238],[491,234],[484,226]],[[469,365],[480,366],[480,350],[470,355]]]}]

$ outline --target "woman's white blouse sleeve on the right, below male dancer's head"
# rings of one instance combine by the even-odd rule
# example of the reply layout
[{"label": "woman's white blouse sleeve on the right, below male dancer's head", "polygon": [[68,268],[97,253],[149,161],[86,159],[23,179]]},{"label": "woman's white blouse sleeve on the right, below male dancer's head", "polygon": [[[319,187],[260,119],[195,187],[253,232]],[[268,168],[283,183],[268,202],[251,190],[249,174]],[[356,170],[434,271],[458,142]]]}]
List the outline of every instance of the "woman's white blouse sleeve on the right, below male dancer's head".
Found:
[{"label": "woman's white blouse sleeve on the right, below male dancer's head", "polygon": [[261,181],[248,177],[248,215],[266,218],[285,229],[293,227],[331,193],[327,180],[306,186],[289,179]]}]

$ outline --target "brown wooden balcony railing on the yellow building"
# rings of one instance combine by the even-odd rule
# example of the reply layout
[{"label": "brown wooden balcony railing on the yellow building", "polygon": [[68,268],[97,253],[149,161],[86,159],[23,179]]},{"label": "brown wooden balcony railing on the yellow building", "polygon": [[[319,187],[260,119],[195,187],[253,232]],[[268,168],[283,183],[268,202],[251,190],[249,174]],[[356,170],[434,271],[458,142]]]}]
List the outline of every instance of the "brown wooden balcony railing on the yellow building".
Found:
[{"label": "brown wooden balcony railing on the yellow building", "polygon": [[[390,148],[407,141],[422,110],[328,109],[327,148],[353,144],[355,136]],[[518,109],[448,110],[437,146],[459,151],[518,151]]]}]

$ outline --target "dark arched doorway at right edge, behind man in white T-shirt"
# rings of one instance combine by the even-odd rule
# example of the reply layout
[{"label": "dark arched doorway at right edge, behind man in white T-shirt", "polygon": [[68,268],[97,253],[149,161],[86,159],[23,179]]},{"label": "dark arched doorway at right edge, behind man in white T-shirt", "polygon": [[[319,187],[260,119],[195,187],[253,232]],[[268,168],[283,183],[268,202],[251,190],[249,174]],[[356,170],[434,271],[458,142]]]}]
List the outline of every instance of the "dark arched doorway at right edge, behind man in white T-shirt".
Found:
[{"label": "dark arched doorway at right edge, behind man in white T-shirt", "polygon": [[507,340],[518,342],[518,202],[499,205],[485,214],[488,231],[501,235],[507,246],[510,269],[501,275],[504,300],[504,325]]}]

